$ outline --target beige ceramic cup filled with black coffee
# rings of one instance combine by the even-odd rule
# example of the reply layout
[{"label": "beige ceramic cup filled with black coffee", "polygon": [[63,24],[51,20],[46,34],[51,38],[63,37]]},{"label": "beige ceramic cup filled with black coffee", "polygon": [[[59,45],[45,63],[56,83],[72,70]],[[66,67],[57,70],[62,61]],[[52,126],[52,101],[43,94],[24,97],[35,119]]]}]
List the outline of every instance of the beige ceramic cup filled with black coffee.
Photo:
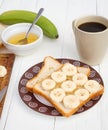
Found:
[{"label": "beige ceramic cup filled with black coffee", "polygon": [[[92,32],[93,30],[79,28],[86,23],[89,23],[86,25],[89,28],[92,27],[90,23],[100,23],[105,28],[97,32],[95,29],[95,32]],[[80,60],[89,65],[100,64],[108,48],[108,20],[96,15],[85,16],[74,20],[72,26]]]}]

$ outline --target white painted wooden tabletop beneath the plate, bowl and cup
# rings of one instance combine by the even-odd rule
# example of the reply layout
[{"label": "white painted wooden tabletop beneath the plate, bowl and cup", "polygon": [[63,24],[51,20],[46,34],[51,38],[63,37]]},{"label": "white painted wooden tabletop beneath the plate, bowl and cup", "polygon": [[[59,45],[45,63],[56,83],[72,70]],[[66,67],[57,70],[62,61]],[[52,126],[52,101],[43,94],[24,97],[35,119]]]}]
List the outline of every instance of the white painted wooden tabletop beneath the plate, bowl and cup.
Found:
[{"label": "white painted wooden tabletop beneath the plate, bowl and cup", "polygon": [[0,119],[0,130],[108,130],[108,52],[102,64],[94,67],[103,78],[104,95],[93,108],[84,113],[70,118],[43,115],[28,108],[18,93],[22,74],[45,56],[79,60],[72,21],[89,14],[108,18],[108,0],[0,0],[0,13],[12,9],[37,12],[40,7],[45,8],[43,15],[57,26],[59,38],[52,40],[44,36],[34,54],[16,56]]}]

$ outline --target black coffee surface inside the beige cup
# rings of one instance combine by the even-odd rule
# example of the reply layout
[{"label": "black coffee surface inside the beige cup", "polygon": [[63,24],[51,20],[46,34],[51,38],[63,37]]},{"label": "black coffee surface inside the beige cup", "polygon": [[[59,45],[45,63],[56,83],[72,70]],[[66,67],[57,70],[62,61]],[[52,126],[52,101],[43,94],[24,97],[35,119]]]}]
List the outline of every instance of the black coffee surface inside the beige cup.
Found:
[{"label": "black coffee surface inside the beige cup", "polygon": [[78,28],[86,32],[101,32],[104,31],[107,27],[101,23],[88,22],[79,25]]}]

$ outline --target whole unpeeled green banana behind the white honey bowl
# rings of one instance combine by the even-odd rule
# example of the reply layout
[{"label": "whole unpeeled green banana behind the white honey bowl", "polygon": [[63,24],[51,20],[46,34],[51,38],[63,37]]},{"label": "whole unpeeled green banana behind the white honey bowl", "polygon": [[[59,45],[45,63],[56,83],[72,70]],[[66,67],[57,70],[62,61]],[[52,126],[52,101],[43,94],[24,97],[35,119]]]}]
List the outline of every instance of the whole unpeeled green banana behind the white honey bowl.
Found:
[{"label": "whole unpeeled green banana behind the white honey bowl", "polygon": [[[24,22],[32,23],[36,15],[31,11],[11,10],[0,15],[0,22],[6,25]],[[36,24],[42,28],[43,33],[49,38],[58,38],[57,28],[48,18],[41,16]]]}]

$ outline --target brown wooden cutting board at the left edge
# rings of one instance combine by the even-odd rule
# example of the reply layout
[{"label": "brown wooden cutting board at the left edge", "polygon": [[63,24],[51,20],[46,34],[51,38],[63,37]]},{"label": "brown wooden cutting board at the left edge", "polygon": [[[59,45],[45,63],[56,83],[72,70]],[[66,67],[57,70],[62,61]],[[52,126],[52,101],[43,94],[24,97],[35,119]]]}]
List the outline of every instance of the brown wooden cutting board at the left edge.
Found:
[{"label": "brown wooden cutting board at the left edge", "polygon": [[3,77],[0,77],[0,116],[2,113],[5,96],[7,93],[8,84],[11,77],[14,59],[15,59],[14,54],[0,54],[0,65],[5,66],[7,70],[7,74]]}]

